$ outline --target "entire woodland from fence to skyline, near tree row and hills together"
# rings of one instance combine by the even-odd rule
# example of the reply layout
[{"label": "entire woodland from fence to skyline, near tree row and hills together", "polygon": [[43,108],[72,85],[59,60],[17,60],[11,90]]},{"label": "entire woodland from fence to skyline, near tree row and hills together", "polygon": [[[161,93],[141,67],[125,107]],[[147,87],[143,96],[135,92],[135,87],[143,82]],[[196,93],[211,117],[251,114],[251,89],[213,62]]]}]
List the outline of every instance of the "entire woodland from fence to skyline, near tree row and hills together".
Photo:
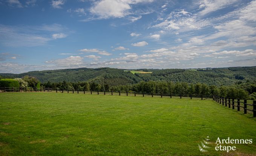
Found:
[{"label": "entire woodland from fence to skyline, near tree row and hills together", "polygon": [[[127,69],[78,68],[0,74],[2,78],[26,75],[52,89],[135,91],[193,95],[223,95],[244,98],[256,92],[256,66],[206,69],[138,69],[152,73],[132,74]],[[243,91],[245,92],[243,92]]]}]

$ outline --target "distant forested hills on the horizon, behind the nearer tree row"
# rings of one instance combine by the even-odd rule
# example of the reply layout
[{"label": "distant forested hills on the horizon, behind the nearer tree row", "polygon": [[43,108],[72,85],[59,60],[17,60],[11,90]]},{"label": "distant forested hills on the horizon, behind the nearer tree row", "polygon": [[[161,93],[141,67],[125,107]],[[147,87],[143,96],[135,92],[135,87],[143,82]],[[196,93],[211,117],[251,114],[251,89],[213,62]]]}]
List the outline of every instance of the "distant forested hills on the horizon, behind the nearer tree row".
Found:
[{"label": "distant forested hills on the horizon, behind the nearer tree row", "polygon": [[256,81],[256,66],[253,67],[230,67],[230,68],[207,68],[207,69],[141,69],[152,72],[147,74],[132,73],[124,69],[115,68],[78,68],[61,69],[51,71],[32,71],[22,74],[5,74],[4,78],[21,78],[30,75],[45,82],[78,82],[96,81],[110,86],[135,84],[139,81],[162,80],[173,82],[206,83],[217,86],[232,85],[235,83]]}]

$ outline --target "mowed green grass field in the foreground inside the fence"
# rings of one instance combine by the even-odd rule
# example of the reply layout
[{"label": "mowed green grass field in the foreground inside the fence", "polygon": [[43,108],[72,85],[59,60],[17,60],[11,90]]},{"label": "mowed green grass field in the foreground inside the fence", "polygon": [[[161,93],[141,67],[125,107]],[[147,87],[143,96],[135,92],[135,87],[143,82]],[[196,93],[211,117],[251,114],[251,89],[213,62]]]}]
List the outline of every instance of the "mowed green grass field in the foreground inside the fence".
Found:
[{"label": "mowed green grass field in the foreground inside the fence", "polygon": [[253,139],[231,155],[256,155],[256,118],[210,100],[0,93],[1,156],[228,155],[218,137]]}]

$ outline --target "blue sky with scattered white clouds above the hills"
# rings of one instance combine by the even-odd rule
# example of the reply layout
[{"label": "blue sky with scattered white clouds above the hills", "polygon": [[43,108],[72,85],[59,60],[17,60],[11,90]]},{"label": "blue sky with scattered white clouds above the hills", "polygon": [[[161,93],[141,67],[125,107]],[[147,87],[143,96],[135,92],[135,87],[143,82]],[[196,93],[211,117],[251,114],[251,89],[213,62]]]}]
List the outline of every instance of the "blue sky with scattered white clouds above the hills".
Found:
[{"label": "blue sky with scattered white clouds above the hills", "polygon": [[0,73],[256,66],[256,0],[0,0]]}]

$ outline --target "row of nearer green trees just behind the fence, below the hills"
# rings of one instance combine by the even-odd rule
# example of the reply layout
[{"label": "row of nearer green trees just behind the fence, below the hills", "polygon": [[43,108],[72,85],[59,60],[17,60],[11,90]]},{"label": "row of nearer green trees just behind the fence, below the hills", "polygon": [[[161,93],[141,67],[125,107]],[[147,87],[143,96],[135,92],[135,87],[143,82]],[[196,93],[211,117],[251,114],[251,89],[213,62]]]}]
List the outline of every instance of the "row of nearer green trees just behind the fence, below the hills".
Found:
[{"label": "row of nearer green trees just behind the fence, below the hills", "polygon": [[59,89],[59,90],[85,90],[103,92],[139,92],[139,93],[160,93],[160,94],[178,94],[178,95],[218,95],[230,98],[252,99],[256,98],[255,84],[240,84],[234,86],[215,86],[205,83],[187,83],[172,81],[140,81],[136,84],[127,84],[119,86],[110,86],[109,84],[100,84],[97,81],[90,82],[59,82],[43,83],[41,87]]}]

